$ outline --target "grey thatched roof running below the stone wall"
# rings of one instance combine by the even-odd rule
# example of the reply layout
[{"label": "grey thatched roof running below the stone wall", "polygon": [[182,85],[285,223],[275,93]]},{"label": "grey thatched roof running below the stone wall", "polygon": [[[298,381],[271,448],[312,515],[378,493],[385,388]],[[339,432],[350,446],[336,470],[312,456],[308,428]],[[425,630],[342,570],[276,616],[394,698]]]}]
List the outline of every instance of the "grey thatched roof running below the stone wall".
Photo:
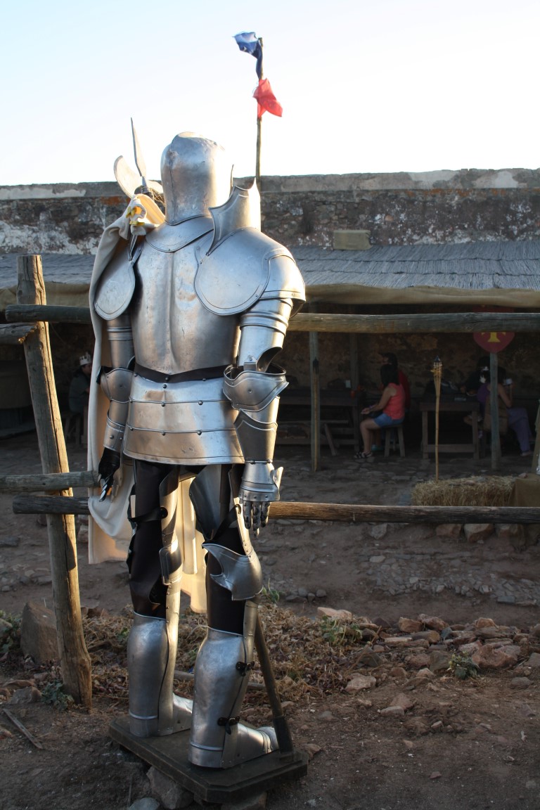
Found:
[{"label": "grey thatched roof running below the stone wall", "polygon": [[[540,241],[292,249],[308,301],[540,307]],[[44,254],[49,304],[87,305],[93,256]],[[0,255],[0,309],[15,303],[17,259]]]}]

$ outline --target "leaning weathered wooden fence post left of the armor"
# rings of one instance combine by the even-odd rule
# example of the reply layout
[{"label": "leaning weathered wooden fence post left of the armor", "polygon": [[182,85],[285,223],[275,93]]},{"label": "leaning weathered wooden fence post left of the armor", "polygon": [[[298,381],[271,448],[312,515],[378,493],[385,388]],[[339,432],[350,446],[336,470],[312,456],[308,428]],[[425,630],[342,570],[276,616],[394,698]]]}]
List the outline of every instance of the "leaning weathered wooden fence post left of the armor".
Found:
[{"label": "leaning weathered wooden fence post left of the armor", "polygon": [[[45,305],[40,256],[17,259],[17,301]],[[66,442],[54,386],[49,327],[44,322],[24,341],[24,356],[36,419],[41,466],[45,473],[69,472]],[[71,490],[58,492],[70,496]],[[72,514],[48,514],[49,553],[58,653],[64,689],[79,704],[91,708],[91,664],[83,635],[75,522]]]}]

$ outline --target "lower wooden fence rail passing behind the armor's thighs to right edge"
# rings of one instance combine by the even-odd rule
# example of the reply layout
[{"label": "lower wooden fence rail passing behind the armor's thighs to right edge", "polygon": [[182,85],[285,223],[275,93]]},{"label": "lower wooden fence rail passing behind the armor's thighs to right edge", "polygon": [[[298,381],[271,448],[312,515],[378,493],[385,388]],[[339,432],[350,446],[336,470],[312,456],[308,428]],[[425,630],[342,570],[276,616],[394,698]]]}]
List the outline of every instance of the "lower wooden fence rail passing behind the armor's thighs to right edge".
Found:
[{"label": "lower wooden fence rail passing behind the armor's thighs to right edge", "polygon": [[[17,495],[15,514],[88,514],[86,498]],[[278,501],[270,519],[331,520],[348,523],[540,523],[536,506],[371,506]]]}]

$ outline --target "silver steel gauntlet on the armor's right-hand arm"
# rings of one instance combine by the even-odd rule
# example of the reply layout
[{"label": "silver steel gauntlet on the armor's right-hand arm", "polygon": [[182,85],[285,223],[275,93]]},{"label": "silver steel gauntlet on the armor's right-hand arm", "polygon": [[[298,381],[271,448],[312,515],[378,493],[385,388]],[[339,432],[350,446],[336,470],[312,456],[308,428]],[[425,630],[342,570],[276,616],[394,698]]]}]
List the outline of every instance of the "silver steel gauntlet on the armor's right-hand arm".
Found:
[{"label": "silver steel gauntlet on the armor's right-hand arm", "polygon": [[252,461],[245,464],[240,484],[240,504],[246,529],[259,529],[268,522],[268,509],[272,501],[279,501],[279,484],[283,467],[274,470],[270,461]]}]

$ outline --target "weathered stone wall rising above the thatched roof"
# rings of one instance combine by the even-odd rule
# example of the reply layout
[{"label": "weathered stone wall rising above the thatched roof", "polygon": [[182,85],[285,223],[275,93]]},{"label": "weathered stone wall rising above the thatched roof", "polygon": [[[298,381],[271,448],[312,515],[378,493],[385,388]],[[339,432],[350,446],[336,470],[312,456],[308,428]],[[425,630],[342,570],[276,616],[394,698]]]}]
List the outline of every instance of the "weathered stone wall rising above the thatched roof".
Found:
[{"label": "weathered stone wall rising above the thatched roof", "polygon": [[[0,186],[0,253],[95,253],[125,202],[116,183]],[[540,170],[263,177],[261,210],[291,248],[340,229],[375,245],[538,239]]]}]

